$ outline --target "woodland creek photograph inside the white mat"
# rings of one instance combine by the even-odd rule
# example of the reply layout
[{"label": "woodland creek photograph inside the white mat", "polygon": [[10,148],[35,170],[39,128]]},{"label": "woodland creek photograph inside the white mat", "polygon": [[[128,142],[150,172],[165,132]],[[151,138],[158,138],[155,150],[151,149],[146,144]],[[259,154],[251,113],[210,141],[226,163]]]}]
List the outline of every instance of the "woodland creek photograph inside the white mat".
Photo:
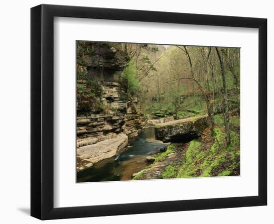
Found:
[{"label": "woodland creek photograph inside the white mat", "polygon": [[76,182],[240,175],[240,48],[76,41]]}]

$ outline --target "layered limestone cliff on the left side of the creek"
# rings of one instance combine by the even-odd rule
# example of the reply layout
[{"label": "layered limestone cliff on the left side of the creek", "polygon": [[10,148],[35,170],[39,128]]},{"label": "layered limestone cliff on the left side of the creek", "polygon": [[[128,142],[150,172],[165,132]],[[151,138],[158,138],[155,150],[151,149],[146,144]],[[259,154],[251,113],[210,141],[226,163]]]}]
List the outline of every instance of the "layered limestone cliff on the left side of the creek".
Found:
[{"label": "layered limestone cliff on the left side of the creek", "polygon": [[[142,128],[137,99],[128,100],[122,85],[128,62],[128,55],[114,44],[77,42],[77,154],[83,151],[81,147],[117,138],[120,133],[136,135]],[[103,149],[97,151],[104,154]]]}]

